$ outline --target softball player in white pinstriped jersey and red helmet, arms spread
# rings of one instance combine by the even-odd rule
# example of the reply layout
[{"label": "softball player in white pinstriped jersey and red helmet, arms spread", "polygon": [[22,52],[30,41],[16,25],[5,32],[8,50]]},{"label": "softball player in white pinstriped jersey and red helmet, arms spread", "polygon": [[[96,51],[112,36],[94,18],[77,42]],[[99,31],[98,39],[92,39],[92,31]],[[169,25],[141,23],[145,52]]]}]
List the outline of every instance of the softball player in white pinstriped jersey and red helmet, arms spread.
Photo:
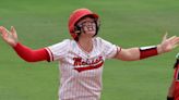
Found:
[{"label": "softball player in white pinstriped jersey and red helmet, arms spread", "polygon": [[32,50],[17,40],[14,27],[9,32],[1,26],[0,33],[2,39],[27,62],[60,62],[59,100],[99,100],[106,59],[142,60],[171,51],[179,42],[179,37],[167,39],[165,35],[162,43],[157,46],[123,49],[97,37],[98,29],[99,16],[88,9],[77,9],[69,18],[72,40],[65,39],[43,49]]}]

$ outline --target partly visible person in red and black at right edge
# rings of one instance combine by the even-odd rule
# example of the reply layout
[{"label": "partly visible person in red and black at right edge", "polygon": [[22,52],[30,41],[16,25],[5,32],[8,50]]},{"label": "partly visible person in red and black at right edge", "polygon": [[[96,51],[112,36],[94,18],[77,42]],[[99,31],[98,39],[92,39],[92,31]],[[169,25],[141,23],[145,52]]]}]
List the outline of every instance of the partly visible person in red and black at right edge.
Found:
[{"label": "partly visible person in red and black at right edge", "polygon": [[167,100],[179,100],[179,53],[176,55],[174,68],[174,78],[168,90]]}]

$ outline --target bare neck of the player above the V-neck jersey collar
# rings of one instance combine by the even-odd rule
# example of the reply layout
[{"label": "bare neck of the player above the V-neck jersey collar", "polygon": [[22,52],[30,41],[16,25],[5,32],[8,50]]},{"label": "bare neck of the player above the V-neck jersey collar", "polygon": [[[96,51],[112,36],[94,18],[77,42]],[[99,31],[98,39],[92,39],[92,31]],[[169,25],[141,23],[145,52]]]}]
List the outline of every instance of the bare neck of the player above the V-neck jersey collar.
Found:
[{"label": "bare neck of the player above the V-neck jersey collar", "polygon": [[77,43],[86,52],[91,52],[93,50],[92,38],[80,38]]}]

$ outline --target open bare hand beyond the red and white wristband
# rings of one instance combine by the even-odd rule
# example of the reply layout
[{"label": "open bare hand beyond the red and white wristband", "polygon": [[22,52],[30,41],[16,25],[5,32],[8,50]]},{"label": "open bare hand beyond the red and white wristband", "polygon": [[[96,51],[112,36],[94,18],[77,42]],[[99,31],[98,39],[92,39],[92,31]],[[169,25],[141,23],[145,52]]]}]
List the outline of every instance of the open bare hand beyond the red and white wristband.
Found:
[{"label": "open bare hand beyond the red and white wristband", "polygon": [[179,45],[179,37],[172,36],[170,38],[167,38],[167,35],[168,34],[166,33],[163,37],[162,43],[158,45],[158,53],[169,52]]}]

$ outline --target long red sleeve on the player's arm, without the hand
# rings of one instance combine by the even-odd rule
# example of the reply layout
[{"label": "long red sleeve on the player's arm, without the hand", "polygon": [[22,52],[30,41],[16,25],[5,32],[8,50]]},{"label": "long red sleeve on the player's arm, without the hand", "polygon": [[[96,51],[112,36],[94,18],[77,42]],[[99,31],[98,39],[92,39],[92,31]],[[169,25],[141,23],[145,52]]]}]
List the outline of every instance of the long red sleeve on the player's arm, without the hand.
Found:
[{"label": "long red sleeve on the player's arm, without the hand", "polygon": [[49,61],[49,54],[45,48],[38,50],[32,50],[21,43],[17,43],[13,47],[15,52],[27,62],[37,62],[37,61]]}]

